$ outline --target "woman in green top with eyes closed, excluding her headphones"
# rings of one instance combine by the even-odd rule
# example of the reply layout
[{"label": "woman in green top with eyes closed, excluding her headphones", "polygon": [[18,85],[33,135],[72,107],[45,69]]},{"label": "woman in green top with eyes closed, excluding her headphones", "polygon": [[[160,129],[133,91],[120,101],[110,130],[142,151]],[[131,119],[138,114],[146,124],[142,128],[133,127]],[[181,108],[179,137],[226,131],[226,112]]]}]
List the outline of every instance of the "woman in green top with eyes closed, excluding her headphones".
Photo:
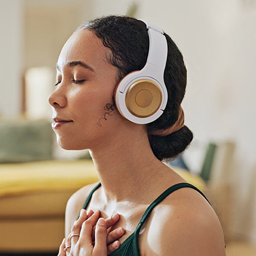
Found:
[{"label": "woman in green top with eyes closed, excluding her headphones", "polygon": [[147,61],[150,42],[143,21],[122,16],[92,20],[61,50],[56,90],[49,96],[52,127],[62,148],[90,150],[100,184],[83,187],[68,201],[60,256],[225,255],[212,207],[162,163],[192,140],[180,107],[186,67],[175,43],[164,36],[168,102],[148,124],[125,119],[113,99],[120,79],[142,70]]}]

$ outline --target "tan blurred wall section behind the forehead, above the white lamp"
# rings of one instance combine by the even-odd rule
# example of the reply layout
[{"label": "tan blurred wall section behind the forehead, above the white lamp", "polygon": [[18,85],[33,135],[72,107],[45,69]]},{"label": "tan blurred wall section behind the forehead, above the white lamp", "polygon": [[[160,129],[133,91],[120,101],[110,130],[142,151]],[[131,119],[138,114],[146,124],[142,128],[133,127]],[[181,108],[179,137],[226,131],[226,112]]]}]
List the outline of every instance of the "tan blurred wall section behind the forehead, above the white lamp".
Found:
[{"label": "tan blurred wall section behind the forehead, above the white lamp", "polygon": [[24,0],[24,67],[50,66],[55,69],[67,38],[91,18],[90,0]]}]

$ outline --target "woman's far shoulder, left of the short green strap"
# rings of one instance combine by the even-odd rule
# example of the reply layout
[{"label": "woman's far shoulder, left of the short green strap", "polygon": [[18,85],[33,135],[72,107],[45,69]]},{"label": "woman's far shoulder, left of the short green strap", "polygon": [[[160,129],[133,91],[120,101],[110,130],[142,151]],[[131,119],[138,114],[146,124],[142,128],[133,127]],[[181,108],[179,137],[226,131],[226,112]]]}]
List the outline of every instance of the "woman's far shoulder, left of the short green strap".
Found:
[{"label": "woman's far shoulder, left of the short green strap", "polygon": [[84,206],[84,203],[97,183],[93,183],[82,187],[76,191],[67,201],[65,212],[65,236],[70,233],[70,229],[73,226],[74,221],[78,218],[79,212]]}]

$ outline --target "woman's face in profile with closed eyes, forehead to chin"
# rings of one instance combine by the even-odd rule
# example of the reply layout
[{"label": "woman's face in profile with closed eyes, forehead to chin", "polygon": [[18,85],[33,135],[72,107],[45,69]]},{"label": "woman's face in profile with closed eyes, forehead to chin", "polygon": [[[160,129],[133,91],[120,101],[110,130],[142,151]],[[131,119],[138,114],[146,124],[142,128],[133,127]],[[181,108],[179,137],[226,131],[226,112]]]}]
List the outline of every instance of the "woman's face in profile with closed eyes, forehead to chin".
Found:
[{"label": "woman's face in profile with closed eyes, forehead to chin", "polygon": [[[117,69],[109,64],[110,49],[88,30],[76,31],[64,45],[57,63],[57,84],[49,96],[52,128],[64,149],[94,147],[113,134],[122,117],[104,108],[113,103]],[[104,118],[106,117],[106,119]]]}]

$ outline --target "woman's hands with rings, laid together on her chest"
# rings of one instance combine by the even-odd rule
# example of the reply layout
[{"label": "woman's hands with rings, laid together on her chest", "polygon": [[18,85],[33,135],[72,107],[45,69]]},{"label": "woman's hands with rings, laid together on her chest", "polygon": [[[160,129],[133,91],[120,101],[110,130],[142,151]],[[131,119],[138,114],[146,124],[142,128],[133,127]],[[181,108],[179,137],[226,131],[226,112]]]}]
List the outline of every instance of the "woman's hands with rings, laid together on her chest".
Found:
[{"label": "woman's hands with rings, laid together on her chest", "polygon": [[81,209],[70,234],[60,245],[58,256],[107,256],[116,250],[120,246],[118,239],[124,235],[125,229],[109,230],[120,216],[115,214],[107,219],[99,216],[99,211],[90,210],[87,213]]}]

